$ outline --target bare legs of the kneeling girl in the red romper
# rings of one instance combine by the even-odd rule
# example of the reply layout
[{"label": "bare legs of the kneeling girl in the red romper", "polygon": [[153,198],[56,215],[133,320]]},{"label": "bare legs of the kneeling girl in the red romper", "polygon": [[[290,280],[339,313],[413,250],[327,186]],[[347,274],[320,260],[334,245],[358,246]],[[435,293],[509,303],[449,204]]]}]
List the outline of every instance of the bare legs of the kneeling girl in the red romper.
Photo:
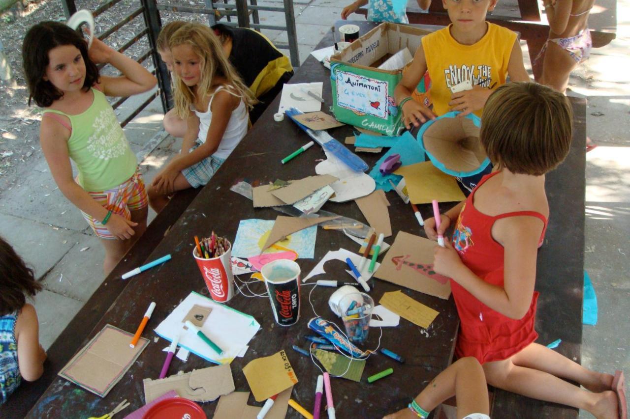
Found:
[{"label": "bare legs of the kneeling girl in the red romper", "polygon": [[[492,386],[524,396],[584,409],[598,419],[617,419],[613,376],[590,371],[543,345],[530,344],[509,359],[483,365]],[[562,378],[584,386],[581,389]]]}]

